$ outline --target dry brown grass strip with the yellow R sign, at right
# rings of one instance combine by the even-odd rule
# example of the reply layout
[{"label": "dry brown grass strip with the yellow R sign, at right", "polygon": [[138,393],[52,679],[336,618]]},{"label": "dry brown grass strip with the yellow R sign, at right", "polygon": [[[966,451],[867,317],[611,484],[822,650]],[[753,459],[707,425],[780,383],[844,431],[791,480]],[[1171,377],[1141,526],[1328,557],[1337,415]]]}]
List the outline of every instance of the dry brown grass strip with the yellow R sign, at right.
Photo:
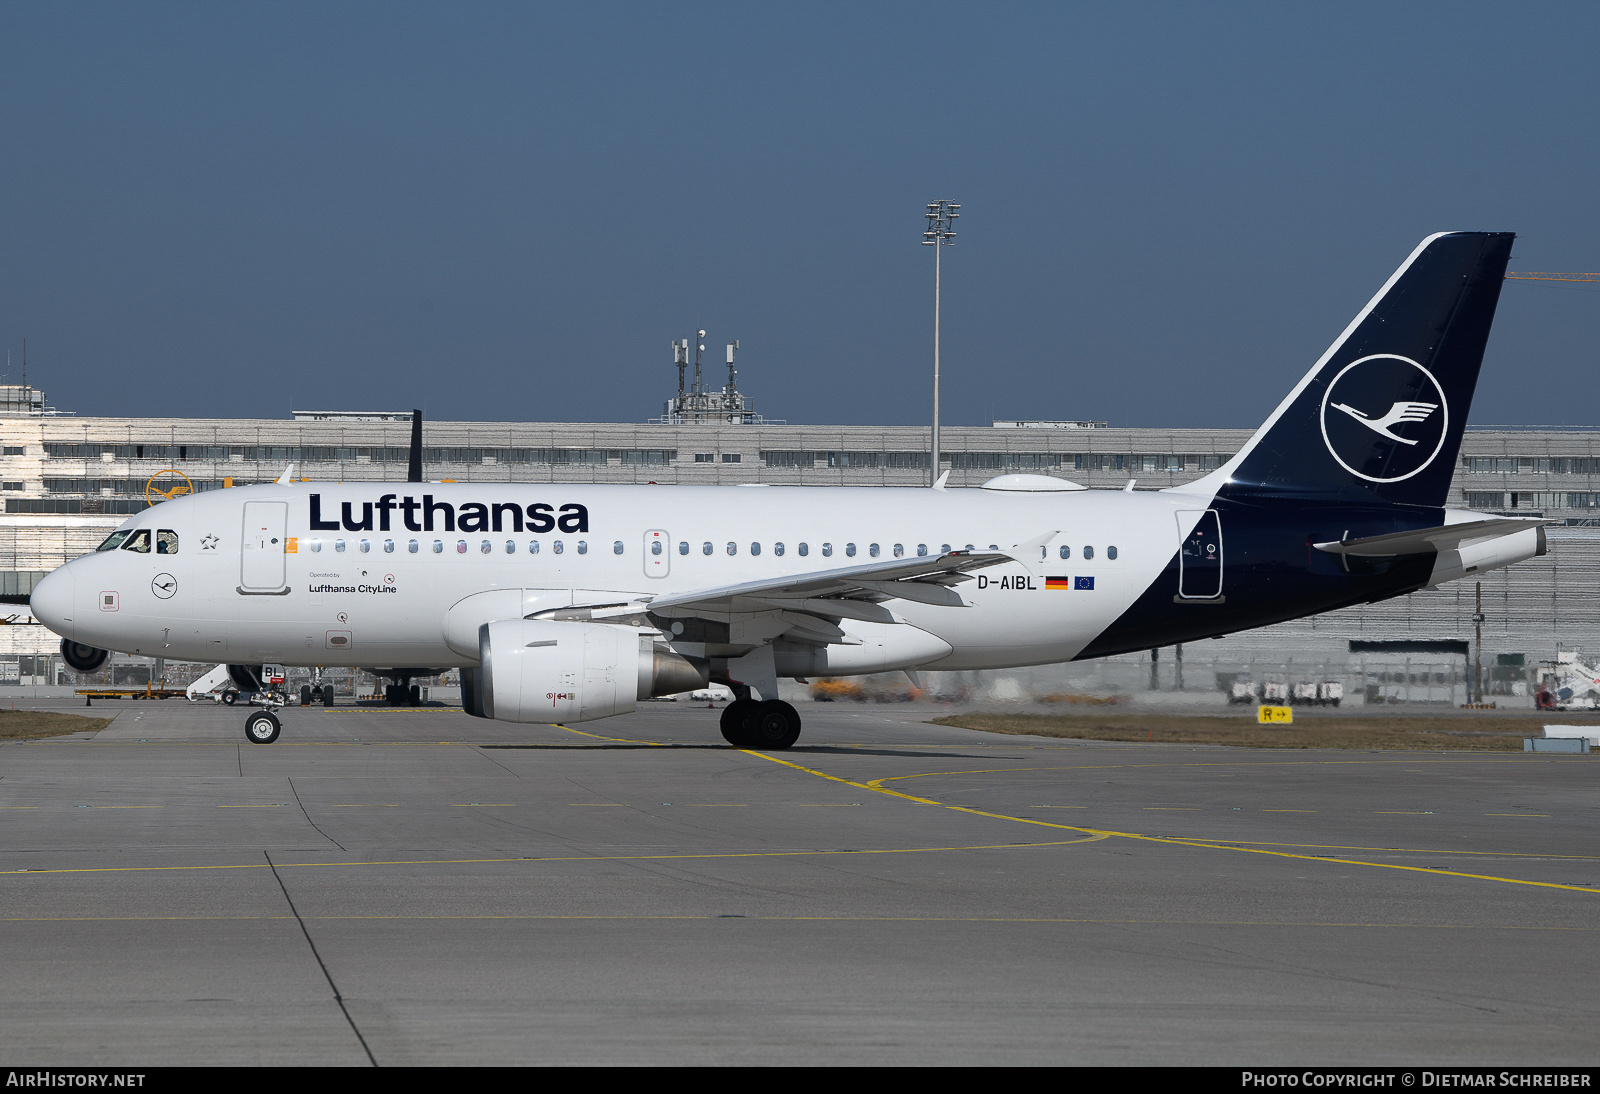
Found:
[{"label": "dry brown grass strip with the yellow R sign, at right", "polygon": [[[1595,718],[1562,713],[1552,721],[1584,725]],[[1142,741],[1146,744],[1216,744],[1243,749],[1395,749],[1450,752],[1522,752],[1523,737],[1544,736],[1536,718],[1494,717],[1302,717],[1291,725],[1262,726],[1250,715],[1027,715],[963,713],[934,718],[938,726],[984,733],[1075,741]]]}]

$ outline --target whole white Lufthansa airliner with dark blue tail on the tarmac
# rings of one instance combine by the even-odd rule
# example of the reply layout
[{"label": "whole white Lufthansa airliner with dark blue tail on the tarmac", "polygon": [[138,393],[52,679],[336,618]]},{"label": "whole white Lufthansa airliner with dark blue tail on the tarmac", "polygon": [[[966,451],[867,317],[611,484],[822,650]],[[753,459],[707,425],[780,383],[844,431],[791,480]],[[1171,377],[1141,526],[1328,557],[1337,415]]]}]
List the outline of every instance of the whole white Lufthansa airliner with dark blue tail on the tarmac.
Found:
[{"label": "whole white Lufthansa airliner with dark blue tail on the tarmac", "polygon": [[[728,686],[734,747],[800,736],[779,678],[1005,669],[1216,638],[1542,555],[1446,507],[1514,235],[1422,240],[1250,441],[1158,491],[405,483],[219,489],[131,517],[34,590],[90,672],[117,649],[392,680],[581,723]],[[331,694],[331,693],[330,693]],[[414,693],[413,693],[414,694]],[[246,739],[280,720],[251,713]]]}]

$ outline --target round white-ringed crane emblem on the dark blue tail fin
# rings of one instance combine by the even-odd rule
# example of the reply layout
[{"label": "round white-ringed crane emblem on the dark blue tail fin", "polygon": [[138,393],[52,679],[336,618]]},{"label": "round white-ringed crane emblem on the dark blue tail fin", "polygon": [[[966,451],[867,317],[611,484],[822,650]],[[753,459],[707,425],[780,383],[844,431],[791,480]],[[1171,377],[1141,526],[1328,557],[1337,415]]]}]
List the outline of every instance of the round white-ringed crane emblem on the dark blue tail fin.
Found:
[{"label": "round white-ringed crane emblem on the dark blue tail fin", "polygon": [[1434,374],[1408,357],[1350,361],[1322,397],[1322,438],[1344,470],[1370,483],[1422,472],[1445,446],[1450,405]]}]

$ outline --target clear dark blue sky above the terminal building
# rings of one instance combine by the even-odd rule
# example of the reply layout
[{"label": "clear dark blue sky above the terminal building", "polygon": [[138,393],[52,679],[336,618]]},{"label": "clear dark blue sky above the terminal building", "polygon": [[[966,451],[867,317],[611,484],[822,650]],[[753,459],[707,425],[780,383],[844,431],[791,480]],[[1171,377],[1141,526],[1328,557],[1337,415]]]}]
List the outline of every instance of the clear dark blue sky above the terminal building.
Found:
[{"label": "clear dark blue sky above the terminal building", "polygon": [[[0,349],[82,414],[1254,425],[1429,232],[1600,270],[1600,8],[0,6]],[[1600,285],[1472,421],[1600,424]],[[720,369],[718,369],[720,373]],[[714,373],[715,374],[715,373]]]}]

